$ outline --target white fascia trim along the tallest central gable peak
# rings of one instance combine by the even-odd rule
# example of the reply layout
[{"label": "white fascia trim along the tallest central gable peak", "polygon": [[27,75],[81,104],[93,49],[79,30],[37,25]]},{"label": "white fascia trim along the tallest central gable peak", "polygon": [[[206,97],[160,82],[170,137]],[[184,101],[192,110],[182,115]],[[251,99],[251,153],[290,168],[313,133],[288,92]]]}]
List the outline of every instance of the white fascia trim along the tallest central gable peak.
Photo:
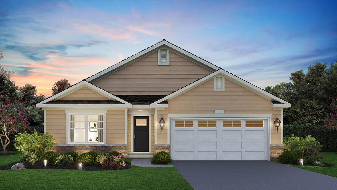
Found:
[{"label": "white fascia trim along the tallest central gable peak", "polygon": [[90,81],[94,80],[95,78],[100,77],[100,76],[102,76],[102,75],[104,75],[104,74],[106,74],[106,73],[108,73],[108,72],[110,72],[110,71],[112,71],[112,70],[114,70],[114,69],[122,66],[123,64],[125,64],[127,62],[130,62],[130,61],[132,61],[132,60],[134,60],[136,58],[139,58],[139,57],[143,56],[144,54],[146,54],[146,53],[148,53],[148,52],[150,52],[150,51],[152,51],[152,50],[154,50],[154,49],[156,49],[156,48],[158,48],[158,47],[160,47],[162,45],[166,45],[167,47],[172,48],[173,50],[176,50],[176,51],[178,51],[178,52],[180,52],[182,54],[185,54],[185,55],[187,55],[187,56],[189,56],[189,57],[191,57],[191,58],[193,58],[193,59],[195,59],[195,60],[197,60],[197,61],[199,61],[199,62],[201,62],[201,63],[203,63],[203,64],[205,64],[207,66],[209,66],[209,67],[211,67],[214,70],[220,69],[220,67],[217,67],[217,66],[215,66],[215,65],[213,65],[213,64],[211,64],[211,63],[209,63],[209,62],[207,62],[207,61],[205,61],[205,60],[203,60],[203,59],[201,59],[201,58],[199,58],[199,57],[197,57],[197,56],[195,56],[195,55],[193,55],[193,54],[191,54],[191,53],[189,53],[189,52],[187,52],[187,51],[185,51],[183,49],[181,49],[181,48],[178,48],[177,46],[174,46],[174,45],[172,45],[171,43],[169,43],[167,41],[161,41],[158,44],[156,44],[156,45],[154,45],[154,46],[152,46],[152,47],[150,47],[150,48],[148,48],[148,49],[146,49],[144,51],[141,51],[141,52],[139,52],[139,53],[137,53],[137,54],[135,54],[135,55],[133,55],[133,56],[131,56],[131,57],[129,57],[129,58],[127,58],[127,59],[125,59],[125,60],[123,60],[123,61],[121,61],[121,62],[119,62],[119,63],[117,63],[115,65],[113,65],[113,66],[111,66],[111,67],[109,67],[108,69],[105,69],[105,70],[97,73],[96,75],[93,75],[93,76],[87,78],[86,80],[88,82],[90,82]]}]

